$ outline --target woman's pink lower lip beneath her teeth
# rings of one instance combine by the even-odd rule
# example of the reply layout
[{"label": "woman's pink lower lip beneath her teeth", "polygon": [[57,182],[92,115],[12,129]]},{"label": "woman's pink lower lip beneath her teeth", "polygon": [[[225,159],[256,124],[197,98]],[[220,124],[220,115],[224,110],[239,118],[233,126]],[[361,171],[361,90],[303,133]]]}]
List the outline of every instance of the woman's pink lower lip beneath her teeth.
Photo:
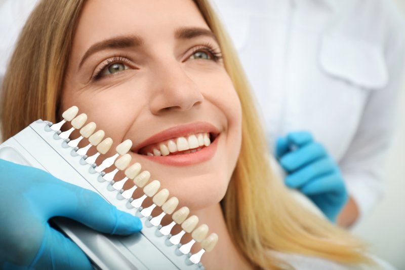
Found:
[{"label": "woman's pink lower lip beneath her teeth", "polygon": [[201,162],[205,162],[214,157],[217,150],[218,141],[221,136],[217,136],[215,140],[210,144],[201,148],[196,152],[182,153],[181,155],[168,155],[168,156],[144,156],[140,155],[150,161],[170,165],[170,166],[188,166]]}]

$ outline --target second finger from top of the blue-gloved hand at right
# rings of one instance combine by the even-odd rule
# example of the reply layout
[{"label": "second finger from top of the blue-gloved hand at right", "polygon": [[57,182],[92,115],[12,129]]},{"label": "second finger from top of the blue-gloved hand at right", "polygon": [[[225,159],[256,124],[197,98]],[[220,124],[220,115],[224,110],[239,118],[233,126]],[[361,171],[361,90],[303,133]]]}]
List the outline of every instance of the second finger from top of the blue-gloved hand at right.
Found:
[{"label": "second finger from top of the blue-gloved hand at right", "polygon": [[302,148],[287,153],[280,159],[280,164],[288,172],[293,172],[326,156],[327,152],[325,148],[317,142],[312,142]]}]

